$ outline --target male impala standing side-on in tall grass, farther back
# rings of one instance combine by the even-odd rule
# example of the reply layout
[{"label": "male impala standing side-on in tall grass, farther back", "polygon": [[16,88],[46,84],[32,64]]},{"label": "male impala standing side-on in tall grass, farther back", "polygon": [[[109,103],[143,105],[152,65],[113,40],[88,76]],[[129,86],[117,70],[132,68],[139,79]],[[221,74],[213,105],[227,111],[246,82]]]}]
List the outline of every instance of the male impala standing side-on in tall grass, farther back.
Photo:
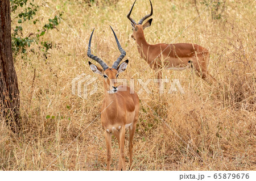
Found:
[{"label": "male impala standing side-on in tall grass, farther back", "polygon": [[171,70],[194,68],[197,75],[201,78],[213,79],[215,81],[207,71],[209,52],[204,47],[189,43],[160,43],[155,45],[147,43],[143,31],[146,27],[151,26],[152,18],[146,23],[142,23],[153,14],[151,1],[150,5],[151,13],[144,16],[138,24],[130,17],[133,6],[129,14],[127,14],[127,18],[131,21],[131,26],[133,26],[133,35],[131,37],[137,42],[137,48],[141,57],[146,60],[150,68],[158,70],[158,78],[162,78],[162,68]]}]

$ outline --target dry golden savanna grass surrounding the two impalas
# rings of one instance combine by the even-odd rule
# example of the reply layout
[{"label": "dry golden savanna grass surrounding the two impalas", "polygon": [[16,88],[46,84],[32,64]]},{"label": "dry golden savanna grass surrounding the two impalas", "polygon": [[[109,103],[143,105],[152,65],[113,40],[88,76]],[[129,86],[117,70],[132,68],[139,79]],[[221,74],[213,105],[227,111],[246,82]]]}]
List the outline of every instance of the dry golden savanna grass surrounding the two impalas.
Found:
[{"label": "dry golden savanna grass surrounding the two impalas", "polygon": [[[41,37],[53,42],[47,56],[34,43],[26,56],[14,57],[21,130],[11,132],[1,117],[0,169],[105,170],[106,144],[100,122],[104,87],[102,77],[89,69],[87,44],[95,27],[92,49],[112,65],[119,52],[111,25],[129,59],[119,77],[135,79],[137,92],[141,89],[138,78],[144,82],[156,78],[130,36],[126,15],[133,1],[46,2],[53,11],[40,7],[34,17],[39,22],[23,23],[23,35],[36,32],[60,12],[65,23]],[[221,1],[225,8],[218,10],[214,2],[205,11],[208,1],[196,2],[197,8],[194,1],[152,0],[153,21],[144,30],[145,37],[150,44],[196,43],[207,48],[208,70],[217,83],[210,85],[191,70],[164,70],[163,77],[179,79],[185,94],[167,94],[171,83],[165,83],[164,94],[158,93],[157,83],[148,84],[152,94],[139,94],[133,170],[256,170],[255,1],[225,1],[225,5]],[[44,5],[40,0],[35,3]],[[204,12],[191,24],[197,10]],[[149,12],[149,1],[138,0],[131,17],[138,22]],[[96,77],[98,83],[97,92],[87,99],[72,94],[72,79],[82,73]],[[128,134],[128,169],[127,142]],[[113,139],[112,170],[118,155]]]}]

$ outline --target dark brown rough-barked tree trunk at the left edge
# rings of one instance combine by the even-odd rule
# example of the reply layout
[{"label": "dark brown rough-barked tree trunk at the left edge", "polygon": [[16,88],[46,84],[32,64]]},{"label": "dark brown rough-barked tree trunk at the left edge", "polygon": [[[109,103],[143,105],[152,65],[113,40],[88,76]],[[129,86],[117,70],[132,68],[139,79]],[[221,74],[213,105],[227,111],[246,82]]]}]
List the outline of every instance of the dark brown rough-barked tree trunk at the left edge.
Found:
[{"label": "dark brown rough-barked tree trunk at the left edge", "polygon": [[0,119],[18,126],[19,89],[11,52],[10,0],[0,1]]}]

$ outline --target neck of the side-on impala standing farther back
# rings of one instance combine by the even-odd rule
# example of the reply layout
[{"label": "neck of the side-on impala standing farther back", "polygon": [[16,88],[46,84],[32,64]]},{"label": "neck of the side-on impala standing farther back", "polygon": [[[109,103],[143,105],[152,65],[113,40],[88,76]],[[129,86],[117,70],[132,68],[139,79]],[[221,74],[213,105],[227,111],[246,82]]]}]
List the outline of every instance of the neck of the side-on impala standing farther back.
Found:
[{"label": "neck of the side-on impala standing farther back", "polygon": [[147,61],[148,47],[150,46],[150,44],[147,43],[143,30],[136,33],[135,39],[138,52],[141,54],[141,57]]}]

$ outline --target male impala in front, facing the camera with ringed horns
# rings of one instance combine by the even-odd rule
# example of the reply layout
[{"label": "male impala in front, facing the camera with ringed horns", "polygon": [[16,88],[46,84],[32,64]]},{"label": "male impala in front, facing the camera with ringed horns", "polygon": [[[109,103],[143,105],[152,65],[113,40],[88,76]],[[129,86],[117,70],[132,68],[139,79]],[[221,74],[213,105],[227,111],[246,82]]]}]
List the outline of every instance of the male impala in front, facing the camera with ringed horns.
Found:
[{"label": "male impala in front, facing the camera with ringed horns", "polygon": [[[112,29],[112,27],[110,27]],[[93,30],[94,31],[94,30]],[[107,150],[107,170],[110,169],[111,160],[111,134],[114,133],[119,144],[119,163],[118,170],[125,170],[125,128],[129,128],[129,154],[130,154],[130,168],[133,162],[133,136],[136,129],[136,123],[139,114],[139,98],[136,92],[131,90],[127,86],[117,87],[117,76],[122,71],[125,71],[128,60],[119,63],[125,57],[126,52],[122,49],[114,30],[112,29],[115,41],[117,41],[117,46],[121,55],[114,62],[112,68],[109,68],[101,58],[94,56],[91,53],[90,43],[92,40],[92,35],[90,35],[87,56],[98,62],[102,66],[98,66],[89,62],[90,69],[94,73],[100,74],[104,77],[104,89],[105,89],[105,99],[101,107],[101,124],[104,127],[105,139],[106,139],[106,150]],[[118,66],[119,65],[119,66]],[[133,94],[131,94],[133,92]]]}]

